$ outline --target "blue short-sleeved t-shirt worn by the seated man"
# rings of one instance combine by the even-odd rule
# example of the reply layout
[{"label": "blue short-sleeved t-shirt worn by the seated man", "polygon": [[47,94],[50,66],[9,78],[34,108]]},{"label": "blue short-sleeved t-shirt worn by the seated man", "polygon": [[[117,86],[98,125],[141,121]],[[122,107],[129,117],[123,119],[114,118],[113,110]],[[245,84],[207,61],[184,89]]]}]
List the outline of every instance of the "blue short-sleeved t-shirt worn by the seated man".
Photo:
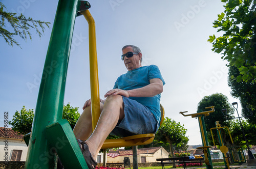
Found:
[{"label": "blue short-sleeved t-shirt worn by the seated man", "polygon": [[[119,76],[113,89],[132,90],[150,85],[150,79],[159,78],[165,84],[159,68],[156,65],[143,66]],[[151,110],[156,120],[161,121],[160,98],[161,94],[153,97],[129,97]]]}]

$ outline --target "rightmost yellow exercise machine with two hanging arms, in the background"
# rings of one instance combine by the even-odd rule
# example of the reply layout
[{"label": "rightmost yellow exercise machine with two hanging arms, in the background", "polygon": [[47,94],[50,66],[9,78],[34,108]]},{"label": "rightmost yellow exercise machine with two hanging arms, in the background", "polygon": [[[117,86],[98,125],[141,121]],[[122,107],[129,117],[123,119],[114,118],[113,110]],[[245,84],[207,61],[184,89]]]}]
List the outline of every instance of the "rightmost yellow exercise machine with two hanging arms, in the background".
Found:
[{"label": "rightmost yellow exercise machine with two hanging arms, in the background", "polygon": [[[229,167],[229,162],[228,162],[228,158],[229,158],[229,157],[227,157],[228,148],[227,148],[226,146],[224,146],[223,138],[222,138],[222,134],[221,134],[221,129],[222,129],[222,128],[227,128],[227,129],[228,129],[228,133],[229,133],[229,136],[230,136],[230,139],[231,139],[231,143],[232,143],[232,144],[233,144],[233,139],[232,139],[232,137],[231,137],[229,128],[228,128],[227,126],[221,127],[219,121],[216,121],[215,124],[216,124],[216,127],[210,129],[212,141],[214,142],[214,135],[212,134],[212,129],[217,129],[217,134],[218,134],[218,138],[219,138],[219,142],[220,142],[220,146],[221,146],[221,147],[220,147],[220,150],[221,150],[221,152],[223,153],[223,156],[224,156],[223,159],[224,159],[225,166],[226,166],[226,168],[229,169],[229,168],[230,168],[230,167]],[[215,145],[215,142],[214,142],[214,146],[216,146],[216,145]]]}]

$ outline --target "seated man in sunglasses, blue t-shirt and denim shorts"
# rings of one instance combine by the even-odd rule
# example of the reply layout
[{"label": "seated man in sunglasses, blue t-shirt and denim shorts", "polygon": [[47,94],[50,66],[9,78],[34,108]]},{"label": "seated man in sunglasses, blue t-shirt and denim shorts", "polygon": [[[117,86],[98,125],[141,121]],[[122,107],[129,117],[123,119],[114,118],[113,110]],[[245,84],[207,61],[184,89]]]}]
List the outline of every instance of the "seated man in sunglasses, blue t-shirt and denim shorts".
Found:
[{"label": "seated man in sunglasses, blue t-shirt and denim shorts", "polygon": [[[130,136],[156,133],[160,121],[160,93],[165,84],[155,65],[141,66],[141,50],[134,45],[122,48],[121,60],[127,73],[118,77],[115,86],[100,99],[100,118],[92,131],[91,100],[83,105],[74,134],[89,168],[109,134]],[[85,140],[85,141],[84,141]]]}]

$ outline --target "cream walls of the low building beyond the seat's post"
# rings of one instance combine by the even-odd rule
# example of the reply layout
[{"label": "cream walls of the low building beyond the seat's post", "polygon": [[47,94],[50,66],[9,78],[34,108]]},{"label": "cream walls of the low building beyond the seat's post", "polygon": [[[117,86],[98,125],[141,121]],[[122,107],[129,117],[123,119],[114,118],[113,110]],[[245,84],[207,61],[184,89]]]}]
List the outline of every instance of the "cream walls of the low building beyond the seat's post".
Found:
[{"label": "cream walls of the low building beyond the seat's post", "polygon": [[[161,149],[157,150],[154,154],[138,154],[138,163],[141,163],[141,157],[146,157],[146,162],[157,162],[157,158],[168,158],[168,152],[164,149],[162,149],[162,154],[161,154]],[[120,155],[115,158],[112,158],[110,156],[107,156],[107,162],[123,162],[124,157],[129,157],[130,162],[133,163],[133,155]]]}]

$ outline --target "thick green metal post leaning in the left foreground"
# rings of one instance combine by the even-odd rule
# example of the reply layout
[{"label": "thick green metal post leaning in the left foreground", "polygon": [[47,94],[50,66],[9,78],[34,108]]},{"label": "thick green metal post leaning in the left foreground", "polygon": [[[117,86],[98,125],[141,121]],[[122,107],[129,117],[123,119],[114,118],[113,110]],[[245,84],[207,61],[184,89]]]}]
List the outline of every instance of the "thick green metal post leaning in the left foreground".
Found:
[{"label": "thick green metal post leaning in the left foreground", "polygon": [[[69,53],[78,0],[58,3],[39,88],[25,168],[54,168],[56,154],[46,138],[46,126],[62,119]],[[59,143],[65,140],[59,139]]]}]

